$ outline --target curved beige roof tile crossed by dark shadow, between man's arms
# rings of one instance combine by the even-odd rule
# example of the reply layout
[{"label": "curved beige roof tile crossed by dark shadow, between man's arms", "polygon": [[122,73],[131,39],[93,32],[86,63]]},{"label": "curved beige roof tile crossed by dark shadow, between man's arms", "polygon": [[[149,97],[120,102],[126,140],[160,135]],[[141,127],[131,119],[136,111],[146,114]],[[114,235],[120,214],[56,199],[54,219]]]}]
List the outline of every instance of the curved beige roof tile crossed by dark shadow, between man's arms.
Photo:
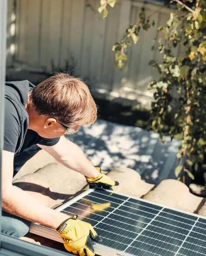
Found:
[{"label": "curved beige roof tile crossed by dark shadow, between man's arms", "polygon": [[78,172],[52,163],[35,173],[16,179],[13,184],[48,207],[55,207],[86,186],[86,179]]}]

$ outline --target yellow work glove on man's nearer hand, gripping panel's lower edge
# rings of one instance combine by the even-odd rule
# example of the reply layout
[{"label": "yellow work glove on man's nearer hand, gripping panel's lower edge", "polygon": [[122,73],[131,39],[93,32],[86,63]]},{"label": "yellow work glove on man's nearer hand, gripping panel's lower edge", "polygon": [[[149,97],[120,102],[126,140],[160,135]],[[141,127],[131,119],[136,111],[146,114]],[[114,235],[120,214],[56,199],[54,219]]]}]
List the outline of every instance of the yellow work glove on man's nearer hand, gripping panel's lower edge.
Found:
[{"label": "yellow work glove on man's nearer hand, gripping panel's lower edge", "polygon": [[62,222],[57,231],[62,236],[65,249],[80,256],[94,256],[92,240],[102,242],[92,225],[77,220],[77,215]]}]

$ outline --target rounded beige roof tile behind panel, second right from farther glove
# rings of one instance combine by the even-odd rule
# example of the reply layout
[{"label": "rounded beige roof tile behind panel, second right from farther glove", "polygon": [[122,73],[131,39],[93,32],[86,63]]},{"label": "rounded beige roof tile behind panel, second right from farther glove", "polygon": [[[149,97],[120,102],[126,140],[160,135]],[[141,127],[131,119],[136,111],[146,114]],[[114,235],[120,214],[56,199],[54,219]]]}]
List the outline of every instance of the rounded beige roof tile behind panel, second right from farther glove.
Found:
[{"label": "rounded beige roof tile behind panel, second right from farther glove", "polygon": [[185,184],[173,179],[162,181],[144,196],[144,199],[191,213],[197,209],[202,200],[201,197],[192,195]]}]

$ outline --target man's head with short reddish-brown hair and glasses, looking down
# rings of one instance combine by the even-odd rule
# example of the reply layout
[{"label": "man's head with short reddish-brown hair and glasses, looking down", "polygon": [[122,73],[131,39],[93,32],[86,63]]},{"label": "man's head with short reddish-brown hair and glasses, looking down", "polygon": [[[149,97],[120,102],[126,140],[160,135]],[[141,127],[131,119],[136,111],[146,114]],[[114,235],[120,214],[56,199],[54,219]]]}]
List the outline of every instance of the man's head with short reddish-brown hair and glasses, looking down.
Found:
[{"label": "man's head with short reddish-brown hair and glasses, looking down", "polygon": [[64,73],[32,89],[27,105],[29,129],[45,138],[73,133],[96,121],[96,104],[89,88],[81,79]]}]

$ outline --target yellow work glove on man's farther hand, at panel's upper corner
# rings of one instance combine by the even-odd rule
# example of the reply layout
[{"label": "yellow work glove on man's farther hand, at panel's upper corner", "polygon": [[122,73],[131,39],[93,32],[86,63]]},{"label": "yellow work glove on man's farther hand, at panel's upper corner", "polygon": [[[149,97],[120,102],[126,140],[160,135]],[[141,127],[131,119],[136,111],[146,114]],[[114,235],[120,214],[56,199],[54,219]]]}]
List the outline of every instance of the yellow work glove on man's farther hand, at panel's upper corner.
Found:
[{"label": "yellow work glove on man's farther hand, at panel's upper corner", "polygon": [[99,166],[96,166],[96,169],[100,172],[97,178],[92,177],[86,177],[86,181],[89,184],[90,187],[100,187],[105,189],[112,189],[112,186],[118,186],[119,182],[114,181],[109,176],[106,176],[101,172],[101,168]]}]

